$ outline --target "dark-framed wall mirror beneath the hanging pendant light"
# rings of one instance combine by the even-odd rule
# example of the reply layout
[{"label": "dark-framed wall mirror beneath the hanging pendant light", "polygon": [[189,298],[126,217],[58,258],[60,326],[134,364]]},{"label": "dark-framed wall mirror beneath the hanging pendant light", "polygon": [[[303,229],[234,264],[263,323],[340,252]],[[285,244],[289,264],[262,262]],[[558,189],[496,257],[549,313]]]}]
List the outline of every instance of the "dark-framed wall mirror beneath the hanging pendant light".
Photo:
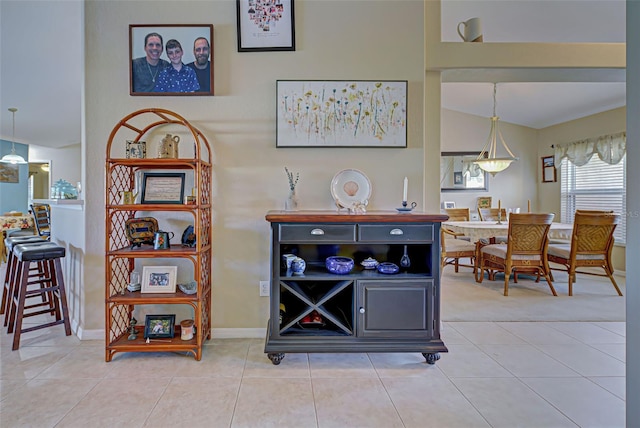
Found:
[{"label": "dark-framed wall mirror beneath the hanging pendant light", "polygon": [[473,163],[480,152],[442,152],[440,155],[440,191],[489,190],[489,173]]}]

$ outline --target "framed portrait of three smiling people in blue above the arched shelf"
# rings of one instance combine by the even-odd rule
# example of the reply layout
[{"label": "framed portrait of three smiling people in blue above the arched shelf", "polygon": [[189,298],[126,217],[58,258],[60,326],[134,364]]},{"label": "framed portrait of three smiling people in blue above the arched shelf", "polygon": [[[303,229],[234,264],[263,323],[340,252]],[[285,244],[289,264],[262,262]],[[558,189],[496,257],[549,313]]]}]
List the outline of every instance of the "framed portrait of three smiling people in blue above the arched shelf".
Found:
[{"label": "framed portrait of three smiling people in blue above the arched shelf", "polygon": [[213,25],[129,25],[130,95],[213,95]]}]

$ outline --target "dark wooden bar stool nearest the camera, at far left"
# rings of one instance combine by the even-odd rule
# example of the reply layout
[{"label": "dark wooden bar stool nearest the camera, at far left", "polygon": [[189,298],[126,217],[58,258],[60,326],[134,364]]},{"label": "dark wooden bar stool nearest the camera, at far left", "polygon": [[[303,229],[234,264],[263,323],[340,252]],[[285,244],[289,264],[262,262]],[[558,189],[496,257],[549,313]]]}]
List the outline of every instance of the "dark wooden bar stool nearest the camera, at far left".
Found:
[{"label": "dark wooden bar stool nearest the camera, at far left", "polygon": [[[62,276],[62,263],[60,262],[60,259],[65,256],[64,247],[51,242],[18,244],[13,247],[12,253],[17,260],[17,276],[14,282],[15,286],[11,287],[11,304],[7,328],[8,333],[13,332],[13,347],[11,349],[15,351],[20,347],[20,335],[22,333],[58,324],[64,324],[65,334],[71,336],[69,309]],[[37,262],[43,262],[44,274],[36,280],[29,281],[31,264]],[[32,284],[39,284],[40,287],[29,289],[29,285]],[[26,304],[28,298],[44,296],[45,294],[51,299],[50,302]],[[53,303],[53,307],[50,307],[49,303]],[[47,306],[47,308],[28,312],[42,306]],[[24,318],[46,313],[55,315],[55,321],[22,328],[22,320]]]}]

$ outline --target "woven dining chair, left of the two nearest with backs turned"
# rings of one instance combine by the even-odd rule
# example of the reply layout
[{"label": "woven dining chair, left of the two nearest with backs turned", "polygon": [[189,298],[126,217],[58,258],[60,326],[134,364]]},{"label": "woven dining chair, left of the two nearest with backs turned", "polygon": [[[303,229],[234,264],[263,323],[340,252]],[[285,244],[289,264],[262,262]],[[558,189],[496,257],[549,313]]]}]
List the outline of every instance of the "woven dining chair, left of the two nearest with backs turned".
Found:
[{"label": "woven dining chair, left of the two nearest with backs turned", "polygon": [[547,262],[548,234],[553,217],[553,214],[511,214],[507,243],[478,249],[478,282],[482,282],[485,271],[490,280],[495,279],[496,272],[504,272],[504,295],[508,296],[512,273],[515,282],[518,272],[536,273],[536,282],[540,275],[544,276],[551,293],[557,296]]}]

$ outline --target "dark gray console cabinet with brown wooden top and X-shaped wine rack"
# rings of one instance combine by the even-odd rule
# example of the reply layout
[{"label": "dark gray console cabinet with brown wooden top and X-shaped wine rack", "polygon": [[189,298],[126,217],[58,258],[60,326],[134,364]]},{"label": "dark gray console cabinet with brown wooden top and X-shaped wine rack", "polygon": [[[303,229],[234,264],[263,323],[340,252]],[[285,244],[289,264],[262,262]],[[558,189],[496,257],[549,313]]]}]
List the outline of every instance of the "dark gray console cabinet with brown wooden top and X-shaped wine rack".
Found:
[{"label": "dark gray console cabinet with brown wooden top and X-shaped wine rack", "polygon": [[[391,211],[270,211],[271,300],[264,352],[280,364],[287,352],[421,352],[435,364],[447,352],[440,339],[440,223],[446,215]],[[397,274],[364,269],[373,257],[400,266]],[[283,264],[296,254],[306,270]],[[346,275],[330,273],[329,256],[355,261]],[[313,315],[316,322],[304,322]]]}]

